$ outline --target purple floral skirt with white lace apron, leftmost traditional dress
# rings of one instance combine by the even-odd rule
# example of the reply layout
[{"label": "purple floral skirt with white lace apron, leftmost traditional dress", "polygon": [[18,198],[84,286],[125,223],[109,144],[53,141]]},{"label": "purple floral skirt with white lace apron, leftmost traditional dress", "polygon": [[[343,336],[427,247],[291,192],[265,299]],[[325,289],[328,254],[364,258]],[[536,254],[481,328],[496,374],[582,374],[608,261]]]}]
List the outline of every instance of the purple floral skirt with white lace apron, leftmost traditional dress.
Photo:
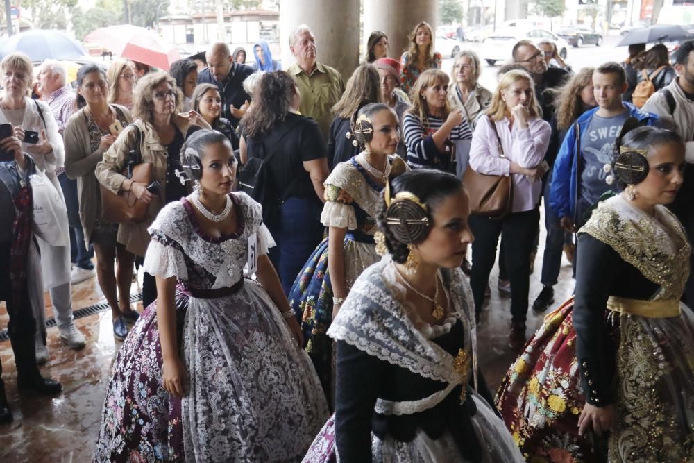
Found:
[{"label": "purple floral skirt with white lace apron, leftmost traditional dress", "polygon": [[250,280],[190,298],[178,401],[163,389],[155,303],[121,347],[96,461],[298,462],[328,418],[313,366],[267,293]]}]

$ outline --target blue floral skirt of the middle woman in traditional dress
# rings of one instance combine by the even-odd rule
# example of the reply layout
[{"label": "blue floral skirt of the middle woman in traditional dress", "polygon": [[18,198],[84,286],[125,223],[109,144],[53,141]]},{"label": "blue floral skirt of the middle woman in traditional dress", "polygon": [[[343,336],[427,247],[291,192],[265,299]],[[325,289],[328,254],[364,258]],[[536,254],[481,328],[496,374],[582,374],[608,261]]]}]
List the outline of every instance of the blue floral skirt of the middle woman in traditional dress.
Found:
[{"label": "blue floral skirt of the middle woman in traditional dress", "polygon": [[[345,238],[344,262],[347,290],[362,271],[380,258],[375,246]],[[332,397],[332,339],[325,333],[332,321],[332,285],[328,271],[328,238],[323,239],[301,269],[289,292],[289,305],[303,330],[305,350],[316,367],[323,391]],[[332,403],[332,401],[330,401]]]}]

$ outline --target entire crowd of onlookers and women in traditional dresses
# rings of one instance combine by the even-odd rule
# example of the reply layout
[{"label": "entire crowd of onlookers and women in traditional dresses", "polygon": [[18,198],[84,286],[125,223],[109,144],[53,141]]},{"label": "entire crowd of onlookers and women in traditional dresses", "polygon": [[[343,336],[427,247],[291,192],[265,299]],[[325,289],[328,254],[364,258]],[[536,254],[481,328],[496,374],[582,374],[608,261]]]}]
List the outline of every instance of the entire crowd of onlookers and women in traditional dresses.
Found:
[{"label": "entire crowd of onlookers and women in traditional dresses", "polygon": [[[97,462],[693,459],[694,41],[571,69],[521,40],[493,89],[473,51],[441,71],[425,22],[399,60],[373,32],[346,83],[308,26],[288,45],[286,71],[217,43],[202,67],[84,65],[74,91],[46,60],[42,99],[3,58],[18,388],[60,392],[43,294],[83,348],[71,286],[95,274],[122,341]],[[475,332],[498,249],[518,360],[495,396]],[[562,253],[574,295],[528,339]]]}]

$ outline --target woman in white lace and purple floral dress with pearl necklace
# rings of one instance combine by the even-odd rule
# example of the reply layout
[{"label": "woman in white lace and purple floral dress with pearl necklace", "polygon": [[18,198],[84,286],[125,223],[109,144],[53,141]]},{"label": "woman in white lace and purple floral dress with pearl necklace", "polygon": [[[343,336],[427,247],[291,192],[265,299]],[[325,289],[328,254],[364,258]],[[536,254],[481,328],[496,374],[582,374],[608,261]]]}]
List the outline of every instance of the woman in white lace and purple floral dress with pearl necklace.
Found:
[{"label": "woman in white lace and purple floral dress with pearl necklace", "polygon": [[94,460],[301,460],[328,408],[266,257],[260,205],[230,194],[236,160],[221,133],[194,133],[181,161],[199,188],[149,228],[158,298],[116,357]]}]

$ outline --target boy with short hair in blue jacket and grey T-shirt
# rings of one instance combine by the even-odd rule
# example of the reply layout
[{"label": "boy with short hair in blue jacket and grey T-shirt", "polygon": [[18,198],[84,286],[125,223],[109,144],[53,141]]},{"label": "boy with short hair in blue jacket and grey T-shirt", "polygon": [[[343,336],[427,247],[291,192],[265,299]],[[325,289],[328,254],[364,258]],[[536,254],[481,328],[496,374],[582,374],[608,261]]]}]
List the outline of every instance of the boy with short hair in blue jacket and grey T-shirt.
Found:
[{"label": "boy with short hair in blue jacket and grey T-shirt", "polygon": [[610,162],[614,140],[622,124],[636,117],[644,126],[657,121],[656,115],[622,101],[627,90],[624,68],[607,62],[593,72],[593,92],[598,108],[584,112],[568,130],[552,171],[550,207],[561,217],[561,228],[576,232],[600,195],[615,187],[605,183],[603,166]]}]

